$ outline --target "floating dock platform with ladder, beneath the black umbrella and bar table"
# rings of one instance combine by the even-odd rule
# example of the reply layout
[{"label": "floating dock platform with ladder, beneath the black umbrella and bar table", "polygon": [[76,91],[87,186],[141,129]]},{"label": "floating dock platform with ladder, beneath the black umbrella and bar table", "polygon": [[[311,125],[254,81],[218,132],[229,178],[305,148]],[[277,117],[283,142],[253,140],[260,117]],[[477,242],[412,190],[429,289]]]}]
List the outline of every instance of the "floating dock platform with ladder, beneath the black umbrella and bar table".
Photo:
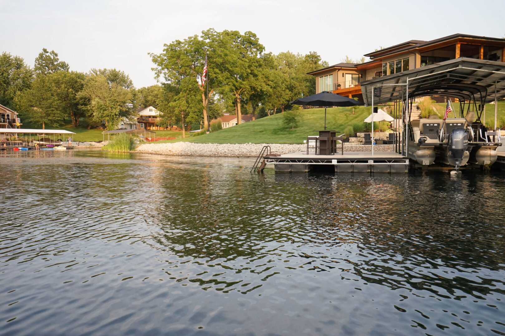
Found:
[{"label": "floating dock platform with ladder, beneath the black umbrella and bar table", "polygon": [[273,163],[278,173],[303,173],[324,166],[335,172],[355,173],[407,173],[409,158],[395,152],[344,152],[333,155],[314,155],[306,152],[265,156],[266,163]]}]

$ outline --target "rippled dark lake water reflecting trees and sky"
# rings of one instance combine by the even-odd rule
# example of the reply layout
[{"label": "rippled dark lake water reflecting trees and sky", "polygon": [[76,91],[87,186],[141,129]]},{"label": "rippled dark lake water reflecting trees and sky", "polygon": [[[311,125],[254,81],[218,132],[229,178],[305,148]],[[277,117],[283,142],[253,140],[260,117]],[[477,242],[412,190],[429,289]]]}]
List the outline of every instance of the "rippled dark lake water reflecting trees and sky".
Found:
[{"label": "rippled dark lake water reflecting trees and sky", "polygon": [[505,335],[505,174],[0,153],[2,335]]}]

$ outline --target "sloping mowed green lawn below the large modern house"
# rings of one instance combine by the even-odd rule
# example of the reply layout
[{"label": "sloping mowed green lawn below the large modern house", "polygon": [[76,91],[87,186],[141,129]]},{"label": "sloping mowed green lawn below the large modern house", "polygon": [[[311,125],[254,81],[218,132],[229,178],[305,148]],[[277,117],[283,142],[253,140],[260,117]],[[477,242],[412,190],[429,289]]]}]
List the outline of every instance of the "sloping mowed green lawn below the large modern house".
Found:
[{"label": "sloping mowed green lawn below the large modern house", "polygon": [[[324,128],[324,108],[299,110],[298,127],[282,124],[283,114],[275,114],[255,121],[246,122],[233,127],[199,137],[159,141],[158,143],[174,143],[187,141],[199,144],[302,144],[307,136],[317,136],[314,130]],[[332,107],[326,112],[326,127],[343,133],[346,125],[363,120],[370,115],[370,107]],[[186,132],[187,135],[187,132]]]}]

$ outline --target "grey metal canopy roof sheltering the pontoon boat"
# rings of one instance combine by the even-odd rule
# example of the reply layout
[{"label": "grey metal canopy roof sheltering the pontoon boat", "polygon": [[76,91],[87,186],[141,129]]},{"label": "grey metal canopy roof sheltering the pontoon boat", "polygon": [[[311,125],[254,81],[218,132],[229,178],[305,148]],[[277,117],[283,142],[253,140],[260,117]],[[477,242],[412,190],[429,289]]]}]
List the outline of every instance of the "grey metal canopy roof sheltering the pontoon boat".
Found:
[{"label": "grey metal canopy roof sheltering the pontoon boat", "polygon": [[[372,105],[373,88],[381,88],[374,105],[406,98],[446,96],[489,103],[505,97],[505,63],[456,58],[361,83],[366,106]],[[496,97],[495,97],[496,88]]]}]

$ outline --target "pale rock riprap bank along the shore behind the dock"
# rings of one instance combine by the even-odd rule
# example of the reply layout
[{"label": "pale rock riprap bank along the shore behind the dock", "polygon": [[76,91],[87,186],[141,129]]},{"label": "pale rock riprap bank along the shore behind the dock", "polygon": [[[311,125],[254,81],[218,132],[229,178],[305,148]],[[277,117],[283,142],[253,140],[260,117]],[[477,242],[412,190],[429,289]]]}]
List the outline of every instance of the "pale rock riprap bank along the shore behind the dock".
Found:
[{"label": "pale rock riprap bank along the shore behind the dock", "polygon": [[[136,152],[146,154],[180,155],[180,156],[222,156],[222,157],[256,157],[260,154],[263,146],[270,146],[273,154],[287,154],[307,151],[307,145],[287,145],[287,144],[195,144],[178,142],[172,144],[142,144],[137,147]],[[339,147],[339,145],[337,145]],[[344,145],[345,152],[369,152],[370,145]],[[310,154],[313,153],[311,149]],[[340,151],[337,148],[337,153]],[[374,151],[393,151],[392,145],[374,146]]]}]

